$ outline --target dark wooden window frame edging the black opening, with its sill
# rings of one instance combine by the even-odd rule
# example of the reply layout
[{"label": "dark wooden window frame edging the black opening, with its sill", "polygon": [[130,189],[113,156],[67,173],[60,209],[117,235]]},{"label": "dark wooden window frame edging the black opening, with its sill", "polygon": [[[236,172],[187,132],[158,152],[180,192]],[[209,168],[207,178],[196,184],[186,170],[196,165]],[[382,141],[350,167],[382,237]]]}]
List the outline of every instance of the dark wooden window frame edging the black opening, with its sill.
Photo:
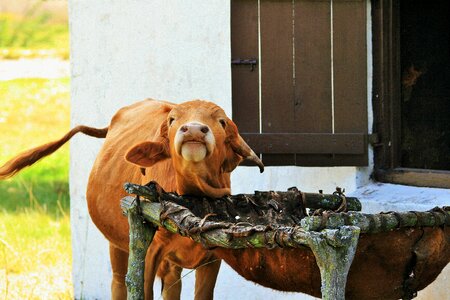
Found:
[{"label": "dark wooden window frame edging the black opening, with its sill", "polygon": [[380,182],[450,188],[450,171],[404,168],[400,164],[400,5],[372,1],[374,179]]}]

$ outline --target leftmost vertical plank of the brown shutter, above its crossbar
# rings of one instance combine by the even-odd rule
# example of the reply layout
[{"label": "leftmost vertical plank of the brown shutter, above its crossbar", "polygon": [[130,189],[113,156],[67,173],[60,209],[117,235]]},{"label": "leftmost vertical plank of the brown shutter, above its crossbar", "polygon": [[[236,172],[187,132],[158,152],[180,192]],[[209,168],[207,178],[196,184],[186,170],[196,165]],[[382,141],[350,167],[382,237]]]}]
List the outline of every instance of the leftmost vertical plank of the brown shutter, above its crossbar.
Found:
[{"label": "leftmost vertical plank of the brown shutter, above its crossbar", "polygon": [[[258,1],[231,1],[231,57],[258,59]],[[239,129],[259,132],[259,65],[232,66],[233,120]]]}]

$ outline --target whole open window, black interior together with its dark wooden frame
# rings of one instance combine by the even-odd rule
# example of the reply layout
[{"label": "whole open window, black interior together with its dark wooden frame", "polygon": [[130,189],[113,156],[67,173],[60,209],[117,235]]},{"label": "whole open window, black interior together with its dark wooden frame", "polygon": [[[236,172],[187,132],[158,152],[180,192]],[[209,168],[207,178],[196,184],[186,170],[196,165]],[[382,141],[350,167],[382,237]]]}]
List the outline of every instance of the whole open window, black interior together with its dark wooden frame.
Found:
[{"label": "whole open window, black interior together with its dark wooden frame", "polygon": [[450,4],[373,0],[374,178],[450,188]]}]

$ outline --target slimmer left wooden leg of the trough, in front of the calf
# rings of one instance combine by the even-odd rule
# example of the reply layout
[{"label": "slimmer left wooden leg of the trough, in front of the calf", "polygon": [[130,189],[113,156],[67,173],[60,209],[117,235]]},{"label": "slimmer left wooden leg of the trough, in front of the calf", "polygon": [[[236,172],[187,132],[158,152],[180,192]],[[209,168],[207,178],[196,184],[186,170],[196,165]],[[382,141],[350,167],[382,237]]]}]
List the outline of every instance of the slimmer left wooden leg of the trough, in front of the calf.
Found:
[{"label": "slimmer left wooden leg of the trough, in front of the calf", "polygon": [[144,222],[137,201],[133,201],[127,209],[127,215],[130,225],[130,253],[125,277],[127,299],[141,300],[144,299],[145,255],[155,235],[156,227]]}]

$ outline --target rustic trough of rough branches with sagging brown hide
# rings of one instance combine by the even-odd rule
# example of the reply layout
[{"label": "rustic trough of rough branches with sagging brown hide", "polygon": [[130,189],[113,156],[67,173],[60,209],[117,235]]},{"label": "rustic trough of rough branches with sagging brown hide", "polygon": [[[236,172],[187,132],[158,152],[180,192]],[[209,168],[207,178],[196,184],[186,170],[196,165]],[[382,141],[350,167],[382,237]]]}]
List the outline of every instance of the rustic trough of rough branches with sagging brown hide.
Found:
[{"label": "rustic trough of rough branches with sagging brown hide", "polygon": [[322,299],[412,299],[450,261],[449,207],[363,214],[340,191],[208,199],[154,182],[125,189],[137,195],[121,201],[130,224],[129,299],[143,299],[151,223],[202,243],[248,280]]}]

